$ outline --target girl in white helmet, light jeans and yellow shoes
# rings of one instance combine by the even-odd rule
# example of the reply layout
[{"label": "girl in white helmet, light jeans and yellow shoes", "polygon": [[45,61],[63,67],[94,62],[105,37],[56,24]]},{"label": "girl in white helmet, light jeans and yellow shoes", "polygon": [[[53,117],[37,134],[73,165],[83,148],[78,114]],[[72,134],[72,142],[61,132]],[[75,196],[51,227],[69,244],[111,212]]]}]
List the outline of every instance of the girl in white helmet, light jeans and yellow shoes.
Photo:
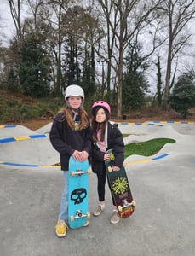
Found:
[{"label": "girl in white helmet, light jeans and yellow shoes", "polygon": [[[88,159],[91,148],[91,129],[88,114],[83,108],[83,89],[72,84],[66,88],[66,107],[62,108],[54,118],[49,134],[50,142],[60,153],[61,170],[64,173],[64,191],[60,202],[60,213],[55,233],[59,237],[66,236],[68,230],[68,164],[72,155],[75,160]],[[85,224],[87,226],[89,222]]]}]

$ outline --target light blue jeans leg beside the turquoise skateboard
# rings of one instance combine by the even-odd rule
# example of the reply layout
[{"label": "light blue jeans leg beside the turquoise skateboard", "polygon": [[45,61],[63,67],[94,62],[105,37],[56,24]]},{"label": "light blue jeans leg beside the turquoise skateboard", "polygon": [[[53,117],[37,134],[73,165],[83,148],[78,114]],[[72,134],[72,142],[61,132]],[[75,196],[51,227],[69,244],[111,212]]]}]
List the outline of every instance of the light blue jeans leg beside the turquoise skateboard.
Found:
[{"label": "light blue jeans leg beside the turquoise skateboard", "polygon": [[68,172],[62,171],[64,173],[64,191],[61,196],[60,202],[60,213],[59,218],[67,220],[68,218]]}]

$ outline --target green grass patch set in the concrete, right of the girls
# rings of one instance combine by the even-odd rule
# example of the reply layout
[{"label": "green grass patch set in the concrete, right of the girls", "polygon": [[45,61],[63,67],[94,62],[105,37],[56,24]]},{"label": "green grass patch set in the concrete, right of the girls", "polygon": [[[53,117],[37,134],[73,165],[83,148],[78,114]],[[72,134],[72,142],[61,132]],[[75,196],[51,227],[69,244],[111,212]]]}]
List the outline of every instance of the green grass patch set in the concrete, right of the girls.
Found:
[{"label": "green grass patch set in the concrete, right of the girls", "polygon": [[130,143],[124,147],[124,158],[132,154],[143,156],[157,154],[167,143],[175,143],[175,140],[170,138],[156,138],[143,143]]}]

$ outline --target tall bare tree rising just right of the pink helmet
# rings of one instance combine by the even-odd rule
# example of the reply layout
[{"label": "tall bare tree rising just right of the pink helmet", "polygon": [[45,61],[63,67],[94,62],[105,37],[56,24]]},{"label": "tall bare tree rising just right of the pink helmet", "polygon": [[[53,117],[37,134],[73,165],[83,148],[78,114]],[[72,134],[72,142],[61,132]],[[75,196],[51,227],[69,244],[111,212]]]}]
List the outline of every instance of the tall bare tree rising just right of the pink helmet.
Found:
[{"label": "tall bare tree rising just right of the pink helmet", "polygon": [[[106,20],[108,75],[109,65],[118,82],[118,118],[122,116],[123,54],[129,42],[152,20],[159,1],[98,0]],[[149,3],[148,3],[149,2]],[[113,62],[114,63],[113,63]]]}]

